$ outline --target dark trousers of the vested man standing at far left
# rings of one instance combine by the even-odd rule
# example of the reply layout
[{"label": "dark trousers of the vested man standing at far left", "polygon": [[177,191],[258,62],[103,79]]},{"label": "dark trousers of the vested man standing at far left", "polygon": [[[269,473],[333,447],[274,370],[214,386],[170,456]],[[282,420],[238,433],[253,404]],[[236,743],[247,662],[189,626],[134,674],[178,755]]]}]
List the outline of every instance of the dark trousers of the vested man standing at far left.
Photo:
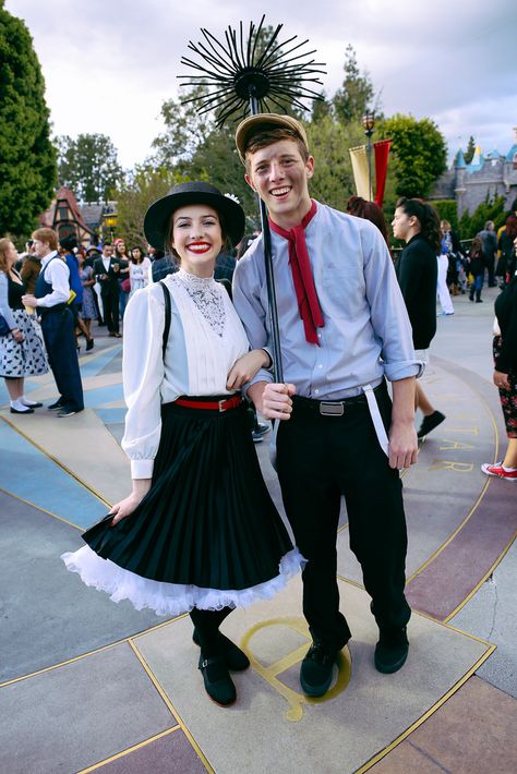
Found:
[{"label": "dark trousers of the vested man standing at far left", "polygon": [[41,315],[41,330],[48,362],[59,395],[68,407],[82,411],[84,409],[83,385],[73,329],[73,314],[69,309]]}]

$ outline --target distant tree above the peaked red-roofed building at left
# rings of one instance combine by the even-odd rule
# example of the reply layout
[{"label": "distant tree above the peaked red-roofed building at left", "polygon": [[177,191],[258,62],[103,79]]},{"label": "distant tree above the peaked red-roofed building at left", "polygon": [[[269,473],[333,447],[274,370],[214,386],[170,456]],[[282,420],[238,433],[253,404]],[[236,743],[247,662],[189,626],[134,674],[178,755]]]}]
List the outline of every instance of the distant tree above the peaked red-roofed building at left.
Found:
[{"label": "distant tree above the peaked red-roofed building at left", "polygon": [[123,178],[117,148],[106,134],[56,138],[59,183],[83,202],[107,202]]}]

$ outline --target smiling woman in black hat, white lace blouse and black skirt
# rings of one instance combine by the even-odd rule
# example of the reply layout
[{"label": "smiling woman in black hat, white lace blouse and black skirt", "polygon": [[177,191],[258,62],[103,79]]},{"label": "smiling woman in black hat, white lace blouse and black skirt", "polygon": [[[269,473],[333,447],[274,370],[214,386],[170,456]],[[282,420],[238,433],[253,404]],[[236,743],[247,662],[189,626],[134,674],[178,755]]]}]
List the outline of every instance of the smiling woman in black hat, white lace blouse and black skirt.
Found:
[{"label": "smiling woman in black hat, white lace blouse and black skirt", "polygon": [[237,392],[270,360],[249,352],[213,278],[225,238],[237,244],[242,237],[240,205],[208,183],[182,183],[152,205],[144,229],[152,244],[175,252],[180,269],[128,305],[122,446],[133,489],[85,533],[88,545],[63,559],[117,602],[161,615],[189,610],[206,691],[228,705],[236,699],[228,669],[249,661],[220,624],[237,605],[270,597],[301,561],[262,479]]}]

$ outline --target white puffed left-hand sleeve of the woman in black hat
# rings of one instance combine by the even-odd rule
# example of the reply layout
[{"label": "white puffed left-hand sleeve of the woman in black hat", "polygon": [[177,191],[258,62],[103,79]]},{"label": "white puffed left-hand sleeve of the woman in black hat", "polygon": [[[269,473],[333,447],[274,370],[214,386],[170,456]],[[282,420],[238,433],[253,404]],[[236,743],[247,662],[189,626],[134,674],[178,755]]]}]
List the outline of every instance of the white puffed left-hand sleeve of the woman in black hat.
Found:
[{"label": "white puffed left-hand sleeve of the woman in black hat", "polygon": [[133,479],[151,479],[161,433],[161,340],[165,309],[161,288],[135,292],[124,314],[122,376],[128,406],[122,448]]}]

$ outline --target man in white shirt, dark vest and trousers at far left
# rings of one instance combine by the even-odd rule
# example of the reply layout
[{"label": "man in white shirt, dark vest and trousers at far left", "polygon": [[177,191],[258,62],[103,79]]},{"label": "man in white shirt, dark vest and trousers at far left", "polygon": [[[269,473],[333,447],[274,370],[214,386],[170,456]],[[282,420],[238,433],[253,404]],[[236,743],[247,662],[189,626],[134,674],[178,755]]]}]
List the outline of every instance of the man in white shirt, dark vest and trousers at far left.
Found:
[{"label": "man in white shirt, dark vest and trousers at far left", "polygon": [[59,390],[59,398],[48,408],[59,418],[83,411],[83,385],[79,370],[73,315],[68,307],[70,271],[58,254],[58,238],[52,229],[33,233],[34,254],[41,261],[34,295],[24,295],[25,306],[37,309],[47,348],[48,361]]}]

